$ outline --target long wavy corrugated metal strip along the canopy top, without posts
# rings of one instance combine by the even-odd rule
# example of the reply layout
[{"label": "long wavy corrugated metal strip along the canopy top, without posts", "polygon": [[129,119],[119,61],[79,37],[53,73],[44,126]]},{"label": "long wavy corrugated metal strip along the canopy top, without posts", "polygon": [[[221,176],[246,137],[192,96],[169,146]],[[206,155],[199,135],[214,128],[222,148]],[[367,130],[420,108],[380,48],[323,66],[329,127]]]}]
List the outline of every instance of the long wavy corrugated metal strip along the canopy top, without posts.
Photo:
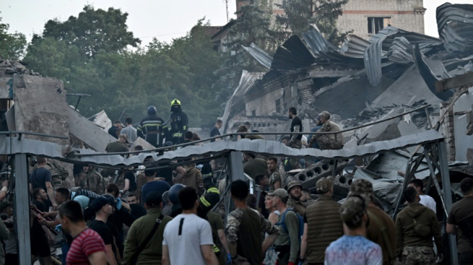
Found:
[{"label": "long wavy corrugated metal strip along the canopy top, without posts", "polygon": [[[64,157],[63,152],[66,147],[55,143],[42,142],[30,139],[21,139],[0,136],[1,154],[29,154],[44,155],[46,157],[58,159],[65,162],[82,162],[101,166],[135,166],[142,164],[147,157],[152,157],[154,161],[167,162],[178,158],[198,157],[206,154],[227,154],[230,151],[253,152],[276,156],[311,156],[318,158],[354,158],[358,156],[374,155],[388,150],[397,150],[419,144],[432,143],[444,139],[443,135],[435,130],[403,136],[394,140],[373,142],[362,146],[342,150],[319,150],[319,149],[292,149],[279,142],[266,140],[238,141],[216,141],[203,146],[187,146],[176,151],[165,152],[159,156],[156,153],[141,153],[131,158],[123,158],[119,155],[87,156],[87,157]],[[14,141],[14,143],[11,143]],[[11,147],[11,150],[10,150]],[[88,149],[76,150],[80,154],[101,154]]]}]

